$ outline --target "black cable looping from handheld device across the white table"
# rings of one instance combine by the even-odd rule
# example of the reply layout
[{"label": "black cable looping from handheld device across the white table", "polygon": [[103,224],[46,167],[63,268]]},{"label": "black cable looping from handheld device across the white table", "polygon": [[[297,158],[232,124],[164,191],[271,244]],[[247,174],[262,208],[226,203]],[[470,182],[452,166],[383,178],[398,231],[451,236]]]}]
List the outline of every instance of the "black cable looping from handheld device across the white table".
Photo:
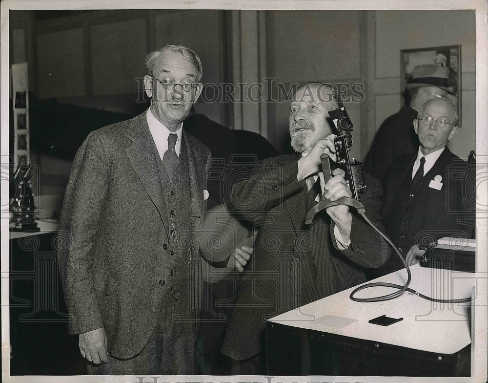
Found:
[{"label": "black cable looping from handheld device across the white table", "polygon": [[[405,283],[405,285],[403,285],[403,286],[397,285],[397,284],[394,284],[394,283],[388,283],[388,282],[372,282],[372,283],[366,283],[365,285],[359,286],[356,289],[354,289],[352,291],[352,293],[349,295],[349,298],[350,299],[354,300],[355,302],[380,302],[380,301],[383,301],[383,300],[389,300],[389,299],[392,299],[392,298],[399,297],[405,291],[408,291],[410,293],[415,294],[416,296],[418,296],[420,298],[424,298],[424,299],[430,300],[432,302],[439,302],[439,303],[465,303],[465,302],[470,302],[471,301],[471,298],[461,298],[461,299],[436,299],[436,298],[430,298],[430,297],[427,297],[426,295],[420,294],[419,292],[417,292],[417,291],[415,291],[413,289],[408,288],[408,285],[410,284],[410,281],[412,279],[412,276],[411,276],[411,273],[410,273],[410,268],[408,267],[407,262],[405,261],[405,259],[403,258],[403,256],[400,254],[400,251],[397,249],[397,247],[391,242],[391,240],[385,234],[383,234],[380,230],[378,230],[378,228],[376,226],[373,225],[373,223],[366,217],[366,214],[364,214],[364,213],[360,213],[360,214],[365,219],[365,221],[368,223],[368,225],[371,226],[374,230],[376,230],[378,232],[378,234],[380,234],[385,239],[385,241],[392,247],[392,249],[395,250],[396,254],[400,257],[402,263],[404,264],[405,268],[407,269],[408,278],[407,278],[407,283]],[[381,287],[393,287],[395,289],[398,289],[398,291],[395,292],[395,293],[383,295],[383,296],[380,296],[380,297],[374,297],[374,298],[355,298],[354,297],[354,294],[356,294],[358,291],[367,289],[369,287],[378,287],[378,286],[381,286]]]}]

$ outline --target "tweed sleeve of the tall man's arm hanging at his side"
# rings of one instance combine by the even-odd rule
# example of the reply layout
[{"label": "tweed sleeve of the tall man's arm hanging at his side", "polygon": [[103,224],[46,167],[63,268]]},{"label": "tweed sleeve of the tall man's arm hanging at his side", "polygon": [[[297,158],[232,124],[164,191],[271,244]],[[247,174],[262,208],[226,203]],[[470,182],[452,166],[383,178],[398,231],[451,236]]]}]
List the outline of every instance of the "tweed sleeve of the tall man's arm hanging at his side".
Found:
[{"label": "tweed sleeve of the tall man's arm hanging at his side", "polygon": [[78,150],[60,218],[59,267],[69,333],[102,327],[92,274],[93,252],[108,189],[108,163],[102,140],[92,132]]}]

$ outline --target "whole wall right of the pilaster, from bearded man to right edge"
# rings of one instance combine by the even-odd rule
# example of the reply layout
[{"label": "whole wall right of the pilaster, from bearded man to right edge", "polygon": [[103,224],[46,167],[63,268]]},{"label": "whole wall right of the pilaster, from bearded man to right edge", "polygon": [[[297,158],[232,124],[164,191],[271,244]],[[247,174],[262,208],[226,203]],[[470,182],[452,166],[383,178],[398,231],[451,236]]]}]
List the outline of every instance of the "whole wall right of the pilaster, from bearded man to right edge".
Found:
[{"label": "whole wall right of the pilaster, from bearded man to right edge", "polygon": [[[267,11],[266,32],[266,75],[277,83],[364,86],[360,102],[346,103],[355,125],[352,155],[363,159],[381,123],[403,103],[400,50],[461,45],[462,130],[449,148],[462,158],[474,149],[474,11]],[[288,145],[287,108],[267,106],[274,127],[268,138],[279,150]]]}]

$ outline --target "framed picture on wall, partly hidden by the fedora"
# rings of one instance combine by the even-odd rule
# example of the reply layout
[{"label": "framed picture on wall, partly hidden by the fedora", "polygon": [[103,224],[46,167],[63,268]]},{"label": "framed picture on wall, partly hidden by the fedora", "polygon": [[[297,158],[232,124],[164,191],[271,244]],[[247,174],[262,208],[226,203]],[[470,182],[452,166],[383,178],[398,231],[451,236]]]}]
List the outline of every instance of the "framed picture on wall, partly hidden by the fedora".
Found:
[{"label": "framed picture on wall, partly hidden by the fedora", "polygon": [[409,92],[405,90],[405,85],[416,81],[412,79],[412,71],[418,65],[424,64],[435,64],[447,69],[432,72],[435,76],[432,82],[438,82],[440,87],[447,89],[447,98],[457,107],[461,126],[461,45],[402,49],[400,51],[402,105],[409,102]]}]

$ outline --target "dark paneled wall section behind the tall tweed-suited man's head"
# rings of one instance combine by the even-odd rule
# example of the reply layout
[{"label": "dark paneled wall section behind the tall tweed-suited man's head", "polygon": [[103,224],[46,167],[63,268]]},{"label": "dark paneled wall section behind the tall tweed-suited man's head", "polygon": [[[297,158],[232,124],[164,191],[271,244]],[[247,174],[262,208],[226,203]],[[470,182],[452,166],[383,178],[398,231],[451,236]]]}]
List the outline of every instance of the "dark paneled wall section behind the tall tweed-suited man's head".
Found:
[{"label": "dark paneled wall section behind the tall tweed-suited man's head", "polygon": [[[67,16],[58,12],[56,18],[40,17],[39,12],[15,11],[11,21],[18,25],[17,40],[29,21],[30,88],[41,99],[137,111],[146,74],[144,58],[170,43],[187,45],[200,55],[204,83],[225,81],[225,11],[106,10],[67,12]],[[18,46],[13,59],[26,56],[25,45]],[[226,123],[224,103],[199,102],[196,109]]]}]

